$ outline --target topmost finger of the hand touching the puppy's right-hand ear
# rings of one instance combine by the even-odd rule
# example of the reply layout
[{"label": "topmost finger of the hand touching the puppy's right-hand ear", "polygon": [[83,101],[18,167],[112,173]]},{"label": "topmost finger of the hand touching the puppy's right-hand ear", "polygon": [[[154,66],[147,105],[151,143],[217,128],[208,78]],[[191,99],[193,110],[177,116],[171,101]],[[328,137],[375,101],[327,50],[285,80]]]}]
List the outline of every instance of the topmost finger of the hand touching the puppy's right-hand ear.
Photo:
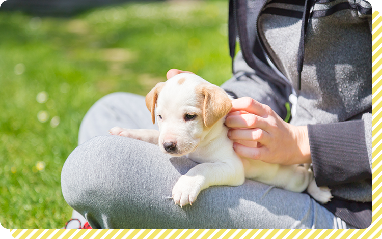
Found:
[{"label": "topmost finger of the hand touching the puppy's right-hand ear", "polygon": [[260,116],[272,113],[272,109],[269,106],[261,104],[251,97],[241,97],[232,101],[232,109],[230,112],[239,110]]}]

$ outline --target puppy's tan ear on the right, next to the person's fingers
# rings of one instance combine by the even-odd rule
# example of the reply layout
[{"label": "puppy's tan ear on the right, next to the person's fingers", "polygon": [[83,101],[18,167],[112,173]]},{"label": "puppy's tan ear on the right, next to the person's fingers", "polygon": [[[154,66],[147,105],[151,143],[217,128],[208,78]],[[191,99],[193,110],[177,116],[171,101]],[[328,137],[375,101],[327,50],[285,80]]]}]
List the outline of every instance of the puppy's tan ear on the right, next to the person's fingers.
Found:
[{"label": "puppy's tan ear on the right, next to the person's fingers", "polygon": [[230,112],[232,102],[224,89],[212,84],[203,84],[197,92],[204,96],[203,119],[207,128]]}]

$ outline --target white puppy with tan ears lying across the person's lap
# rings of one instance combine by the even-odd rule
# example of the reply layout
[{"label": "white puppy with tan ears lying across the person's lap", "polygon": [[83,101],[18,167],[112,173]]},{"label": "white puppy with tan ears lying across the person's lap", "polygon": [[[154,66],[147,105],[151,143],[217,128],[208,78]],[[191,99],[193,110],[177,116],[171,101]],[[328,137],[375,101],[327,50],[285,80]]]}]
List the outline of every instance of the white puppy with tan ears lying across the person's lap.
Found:
[{"label": "white puppy with tan ears lying across the person's lap", "polygon": [[245,178],[293,192],[308,188],[318,201],[330,200],[330,190],[317,187],[312,172],[304,166],[240,159],[224,126],[225,116],[232,108],[231,98],[201,77],[182,73],[158,83],[147,94],[146,105],[152,122],[155,124],[155,118],[158,121],[159,131],[115,127],[110,133],[157,144],[163,153],[187,155],[199,163],[175,184],[172,199],[176,204],[192,204],[199,192],[209,186],[239,186]]}]

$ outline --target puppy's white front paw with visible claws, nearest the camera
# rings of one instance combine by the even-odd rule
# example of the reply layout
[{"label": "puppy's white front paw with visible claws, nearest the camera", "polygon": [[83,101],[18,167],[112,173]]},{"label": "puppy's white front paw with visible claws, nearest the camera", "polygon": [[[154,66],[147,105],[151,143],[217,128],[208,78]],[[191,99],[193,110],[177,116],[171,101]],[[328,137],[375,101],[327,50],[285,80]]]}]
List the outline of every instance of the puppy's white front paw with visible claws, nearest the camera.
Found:
[{"label": "puppy's white front paw with visible claws, nearest the camera", "polygon": [[194,177],[183,175],[173,188],[172,199],[180,207],[187,204],[193,205],[200,192],[200,187],[200,184],[196,182]]}]

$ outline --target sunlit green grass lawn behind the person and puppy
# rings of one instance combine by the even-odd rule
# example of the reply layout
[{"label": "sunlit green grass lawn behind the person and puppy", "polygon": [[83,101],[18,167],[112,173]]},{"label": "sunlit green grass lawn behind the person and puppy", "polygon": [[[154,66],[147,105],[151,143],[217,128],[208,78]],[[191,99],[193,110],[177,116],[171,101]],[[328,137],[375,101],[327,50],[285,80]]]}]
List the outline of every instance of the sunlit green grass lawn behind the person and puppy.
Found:
[{"label": "sunlit green grass lawn behind the person and puppy", "polygon": [[0,12],[0,229],[64,226],[71,208],[61,169],[102,96],[145,95],[171,68],[227,80],[227,7],[130,3],[72,18]]}]

